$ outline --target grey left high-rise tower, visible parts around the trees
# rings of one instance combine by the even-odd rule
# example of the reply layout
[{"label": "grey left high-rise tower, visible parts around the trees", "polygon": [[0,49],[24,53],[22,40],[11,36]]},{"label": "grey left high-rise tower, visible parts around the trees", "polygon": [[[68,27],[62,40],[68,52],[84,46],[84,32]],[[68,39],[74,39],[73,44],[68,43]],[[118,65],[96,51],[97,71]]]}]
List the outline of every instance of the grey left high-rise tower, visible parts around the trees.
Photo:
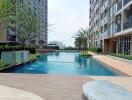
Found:
[{"label": "grey left high-rise tower, visible parts around the trees", "polygon": [[[34,16],[37,17],[37,36],[33,40],[36,41],[37,46],[47,45],[48,1],[47,0],[16,0],[16,5],[17,3],[27,3],[31,7]],[[15,28],[12,25],[10,25],[10,23],[7,27],[5,41],[19,42],[15,35]]]}]

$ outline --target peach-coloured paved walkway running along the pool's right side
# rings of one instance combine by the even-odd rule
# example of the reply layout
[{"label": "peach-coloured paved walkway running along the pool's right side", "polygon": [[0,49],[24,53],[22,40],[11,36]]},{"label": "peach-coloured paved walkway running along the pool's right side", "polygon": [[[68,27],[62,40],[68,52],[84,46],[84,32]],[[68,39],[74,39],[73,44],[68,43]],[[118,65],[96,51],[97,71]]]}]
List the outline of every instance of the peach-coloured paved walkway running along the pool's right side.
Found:
[{"label": "peach-coloured paved walkway running along the pool's right side", "polygon": [[108,66],[128,76],[132,76],[132,64],[117,59],[113,59],[112,57],[109,57],[107,55],[98,55],[92,52],[89,53],[92,54],[95,59],[107,64]]}]

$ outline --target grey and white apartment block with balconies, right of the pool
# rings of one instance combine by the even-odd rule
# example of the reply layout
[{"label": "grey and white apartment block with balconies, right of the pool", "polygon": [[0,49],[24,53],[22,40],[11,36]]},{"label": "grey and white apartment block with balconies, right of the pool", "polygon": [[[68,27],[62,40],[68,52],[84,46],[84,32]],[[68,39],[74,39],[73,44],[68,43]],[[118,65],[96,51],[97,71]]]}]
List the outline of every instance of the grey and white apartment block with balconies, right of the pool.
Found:
[{"label": "grey and white apartment block with balconies, right of the pool", "polygon": [[89,47],[132,54],[132,0],[90,0]]}]

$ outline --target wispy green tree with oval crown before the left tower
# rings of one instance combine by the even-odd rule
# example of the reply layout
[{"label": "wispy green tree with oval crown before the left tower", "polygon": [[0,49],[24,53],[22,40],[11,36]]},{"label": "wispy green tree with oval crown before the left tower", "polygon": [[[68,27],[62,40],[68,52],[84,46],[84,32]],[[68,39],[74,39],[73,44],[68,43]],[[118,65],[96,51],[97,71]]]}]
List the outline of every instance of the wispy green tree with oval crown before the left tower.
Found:
[{"label": "wispy green tree with oval crown before the left tower", "polygon": [[26,3],[19,4],[16,11],[16,36],[22,45],[26,45],[35,38],[37,17]]}]

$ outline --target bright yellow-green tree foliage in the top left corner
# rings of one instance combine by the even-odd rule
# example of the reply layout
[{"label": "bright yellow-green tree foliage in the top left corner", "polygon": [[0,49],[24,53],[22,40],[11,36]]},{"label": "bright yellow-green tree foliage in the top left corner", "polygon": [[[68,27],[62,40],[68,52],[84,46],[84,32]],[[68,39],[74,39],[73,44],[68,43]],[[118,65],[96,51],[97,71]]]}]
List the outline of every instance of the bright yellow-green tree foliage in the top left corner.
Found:
[{"label": "bright yellow-green tree foliage in the top left corner", "polygon": [[15,0],[1,0],[0,1],[0,31],[5,33],[6,27],[10,22],[15,24],[16,5]]}]

